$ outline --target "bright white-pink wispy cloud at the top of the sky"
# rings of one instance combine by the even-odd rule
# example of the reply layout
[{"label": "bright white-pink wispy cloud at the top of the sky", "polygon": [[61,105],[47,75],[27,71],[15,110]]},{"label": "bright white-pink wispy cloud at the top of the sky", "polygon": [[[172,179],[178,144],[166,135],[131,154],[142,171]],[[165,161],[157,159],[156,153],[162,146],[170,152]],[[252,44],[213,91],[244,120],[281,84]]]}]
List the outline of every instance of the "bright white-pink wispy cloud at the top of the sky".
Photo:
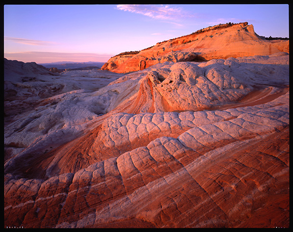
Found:
[{"label": "bright white-pink wispy cloud at the top of the sky", "polygon": [[118,10],[142,14],[153,19],[176,21],[186,17],[195,17],[194,14],[184,11],[180,7],[169,5],[117,5]]}]

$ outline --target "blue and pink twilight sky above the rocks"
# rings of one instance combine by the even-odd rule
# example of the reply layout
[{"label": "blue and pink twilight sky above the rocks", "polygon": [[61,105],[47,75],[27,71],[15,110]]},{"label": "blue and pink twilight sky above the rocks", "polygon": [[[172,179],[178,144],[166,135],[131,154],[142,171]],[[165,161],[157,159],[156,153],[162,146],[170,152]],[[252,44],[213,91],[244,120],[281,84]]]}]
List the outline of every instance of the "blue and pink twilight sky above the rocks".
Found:
[{"label": "blue and pink twilight sky above the rocks", "polygon": [[248,22],[260,36],[289,37],[287,4],[4,5],[4,57],[107,62],[227,22]]}]

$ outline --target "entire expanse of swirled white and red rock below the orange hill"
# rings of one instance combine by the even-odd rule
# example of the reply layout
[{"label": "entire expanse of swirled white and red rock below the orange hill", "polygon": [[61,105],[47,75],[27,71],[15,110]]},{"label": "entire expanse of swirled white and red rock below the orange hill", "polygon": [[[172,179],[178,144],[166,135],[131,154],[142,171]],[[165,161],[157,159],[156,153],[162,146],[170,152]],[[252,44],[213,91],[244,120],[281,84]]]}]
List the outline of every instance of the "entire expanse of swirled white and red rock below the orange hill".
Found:
[{"label": "entire expanse of swirled white and red rock below the orange hill", "polygon": [[6,61],[5,227],[288,227],[288,59],[127,75]]}]

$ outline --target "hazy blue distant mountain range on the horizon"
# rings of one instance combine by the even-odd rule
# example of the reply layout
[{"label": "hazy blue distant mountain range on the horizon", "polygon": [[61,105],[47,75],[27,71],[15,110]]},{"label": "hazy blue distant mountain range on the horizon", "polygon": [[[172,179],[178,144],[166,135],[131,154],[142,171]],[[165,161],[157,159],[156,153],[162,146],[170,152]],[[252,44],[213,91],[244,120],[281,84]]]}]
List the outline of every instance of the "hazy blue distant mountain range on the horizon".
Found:
[{"label": "hazy blue distant mountain range on the horizon", "polygon": [[57,69],[94,69],[98,68],[100,69],[103,66],[104,62],[70,62],[70,61],[61,61],[61,62],[54,62],[54,63],[43,63],[39,64],[46,68],[57,68]]}]

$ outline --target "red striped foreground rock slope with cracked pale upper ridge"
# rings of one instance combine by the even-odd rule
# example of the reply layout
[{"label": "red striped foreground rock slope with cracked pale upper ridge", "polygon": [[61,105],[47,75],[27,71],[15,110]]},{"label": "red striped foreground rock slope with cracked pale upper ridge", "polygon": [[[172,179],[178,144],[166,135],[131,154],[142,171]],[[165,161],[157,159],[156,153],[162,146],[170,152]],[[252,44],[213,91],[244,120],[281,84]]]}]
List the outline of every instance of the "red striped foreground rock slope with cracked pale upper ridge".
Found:
[{"label": "red striped foreground rock slope with cracked pale upper ridge", "polygon": [[[282,115],[287,109],[271,111]],[[74,175],[18,185],[7,177],[7,197],[22,196],[23,186],[32,193],[25,190],[21,203],[6,201],[6,222],[24,227],[104,227],[108,222],[136,227],[141,221],[145,227],[286,227],[288,118],[271,120],[273,133],[238,129],[231,136],[235,129],[229,124],[237,125],[237,119],[195,127],[177,139],[159,137]],[[264,214],[275,208],[278,218]]]}]

